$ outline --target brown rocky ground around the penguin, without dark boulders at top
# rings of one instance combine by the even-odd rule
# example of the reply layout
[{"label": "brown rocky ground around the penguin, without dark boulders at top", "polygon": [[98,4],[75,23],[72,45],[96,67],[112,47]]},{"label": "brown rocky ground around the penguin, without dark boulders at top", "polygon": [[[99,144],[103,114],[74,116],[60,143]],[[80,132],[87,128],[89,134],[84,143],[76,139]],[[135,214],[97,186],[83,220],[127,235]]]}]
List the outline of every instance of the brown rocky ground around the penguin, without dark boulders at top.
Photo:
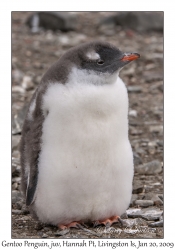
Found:
[{"label": "brown rocky ground around the penguin, without dark boulders at top", "polygon": [[[117,14],[114,12],[73,13],[71,25],[75,30],[69,31],[66,26],[67,32],[61,28],[31,30],[25,24],[31,14],[12,13],[12,238],[162,238],[163,33],[150,28],[152,21],[145,30],[144,23],[143,29],[123,28],[113,21],[99,25],[101,19]],[[141,54],[120,73],[129,94],[129,137],[135,159],[133,196],[122,216],[123,225],[60,231],[32,219],[22,199],[18,150],[21,126],[28,101],[47,68],[70,47],[94,39]]]}]

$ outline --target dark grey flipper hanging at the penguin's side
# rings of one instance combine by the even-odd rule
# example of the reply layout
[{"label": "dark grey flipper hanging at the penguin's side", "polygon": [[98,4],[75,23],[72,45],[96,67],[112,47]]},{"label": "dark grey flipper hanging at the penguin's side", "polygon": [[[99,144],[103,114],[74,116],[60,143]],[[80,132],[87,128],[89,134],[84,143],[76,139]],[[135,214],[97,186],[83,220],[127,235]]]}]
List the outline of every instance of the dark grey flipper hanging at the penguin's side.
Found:
[{"label": "dark grey flipper hanging at the penguin's side", "polygon": [[[33,99],[34,97],[35,95],[33,96]],[[38,159],[41,151],[42,124],[44,119],[40,108],[34,110],[32,115],[32,120],[29,120],[28,116],[25,119],[20,145],[22,190],[26,198],[27,206],[34,202],[36,196]]]}]

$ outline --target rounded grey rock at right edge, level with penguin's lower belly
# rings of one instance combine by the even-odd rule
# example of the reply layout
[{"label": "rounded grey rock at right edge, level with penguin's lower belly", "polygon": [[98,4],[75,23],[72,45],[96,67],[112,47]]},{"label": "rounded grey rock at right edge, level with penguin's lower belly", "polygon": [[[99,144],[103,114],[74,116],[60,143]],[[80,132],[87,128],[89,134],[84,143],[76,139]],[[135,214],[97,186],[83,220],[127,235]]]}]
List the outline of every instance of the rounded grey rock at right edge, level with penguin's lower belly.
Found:
[{"label": "rounded grey rock at right edge, level with penguin's lower belly", "polygon": [[160,161],[155,160],[143,165],[139,165],[135,168],[136,172],[139,174],[158,174],[162,172],[162,164]]}]

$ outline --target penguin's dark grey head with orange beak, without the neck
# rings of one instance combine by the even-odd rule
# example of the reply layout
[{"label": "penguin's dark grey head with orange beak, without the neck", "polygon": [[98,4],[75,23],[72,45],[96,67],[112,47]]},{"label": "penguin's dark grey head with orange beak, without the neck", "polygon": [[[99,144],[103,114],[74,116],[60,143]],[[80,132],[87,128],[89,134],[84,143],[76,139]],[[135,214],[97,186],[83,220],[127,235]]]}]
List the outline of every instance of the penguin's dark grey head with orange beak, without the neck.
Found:
[{"label": "penguin's dark grey head with orange beak, without the neck", "polygon": [[77,51],[77,56],[79,68],[101,74],[119,72],[125,65],[140,57],[138,53],[123,53],[115,46],[104,42],[82,45]]}]

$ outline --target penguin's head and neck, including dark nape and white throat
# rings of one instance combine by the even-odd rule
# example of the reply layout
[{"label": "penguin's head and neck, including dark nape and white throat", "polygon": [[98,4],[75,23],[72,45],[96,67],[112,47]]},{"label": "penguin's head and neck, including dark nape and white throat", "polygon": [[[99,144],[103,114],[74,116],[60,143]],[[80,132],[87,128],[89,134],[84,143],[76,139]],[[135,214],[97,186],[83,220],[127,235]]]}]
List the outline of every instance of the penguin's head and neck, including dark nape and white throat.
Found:
[{"label": "penguin's head and neck, including dark nape and white throat", "polygon": [[[140,57],[138,53],[123,53],[114,45],[95,41],[69,49],[44,75],[48,81],[66,83],[107,83],[128,63]],[[113,77],[114,76],[114,77]]]}]

